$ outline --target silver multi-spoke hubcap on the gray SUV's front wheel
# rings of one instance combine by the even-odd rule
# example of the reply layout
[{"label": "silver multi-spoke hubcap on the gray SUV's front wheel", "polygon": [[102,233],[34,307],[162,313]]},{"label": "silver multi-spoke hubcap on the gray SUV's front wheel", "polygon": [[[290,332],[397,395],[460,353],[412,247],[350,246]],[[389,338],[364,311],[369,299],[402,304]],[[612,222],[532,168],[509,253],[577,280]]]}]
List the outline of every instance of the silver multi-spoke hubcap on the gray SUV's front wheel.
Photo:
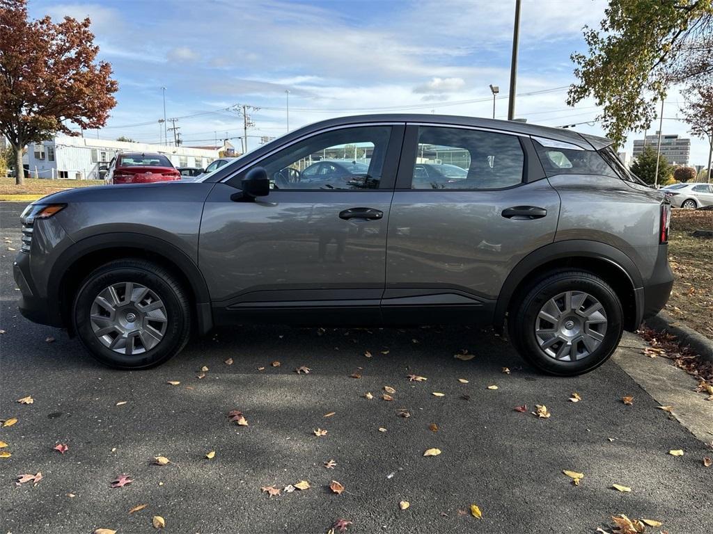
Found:
[{"label": "silver multi-spoke hubcap on the gray SUV's front wheel", "polygon": [[102,344],[124,355],[153,349],[168,325],[163,301],[153,290],[133,282],[112,284],[96,295],[89,320]]}]

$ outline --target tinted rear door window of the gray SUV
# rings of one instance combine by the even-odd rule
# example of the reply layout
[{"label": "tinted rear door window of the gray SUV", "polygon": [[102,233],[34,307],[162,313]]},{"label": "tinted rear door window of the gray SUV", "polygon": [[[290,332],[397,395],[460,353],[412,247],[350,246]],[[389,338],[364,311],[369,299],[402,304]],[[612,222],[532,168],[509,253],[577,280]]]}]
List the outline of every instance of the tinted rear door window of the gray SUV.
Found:
[{"label": "tinted rear door window of the gray SUV", "polygon": [[411,189],[500,189],[520,184],[525,157],[515,135],[419,127]]}]

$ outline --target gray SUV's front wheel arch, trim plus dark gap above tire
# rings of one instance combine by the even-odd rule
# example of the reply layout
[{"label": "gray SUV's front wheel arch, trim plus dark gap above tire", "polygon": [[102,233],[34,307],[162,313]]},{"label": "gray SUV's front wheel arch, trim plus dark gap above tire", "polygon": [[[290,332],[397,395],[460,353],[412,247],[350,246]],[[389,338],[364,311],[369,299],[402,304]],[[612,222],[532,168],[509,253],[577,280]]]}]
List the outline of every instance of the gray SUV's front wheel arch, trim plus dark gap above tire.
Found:
[{"label": "gray SUV's front wheel arch, trim plus dark gap above tire", "polygon": [[58,303],[61,322],[71,334],[71,305],[79,285],[98,266],[120,258],[147,259],[175,274],[188,291],[198,333],[203,335],[212,328],[207,284],[198,265],[188,254],[163,239],[121,232],[99,234],[78,241],[67,248],[52,267],[49,279],[58,283],[48,288],[48,298],[50,302]]}]

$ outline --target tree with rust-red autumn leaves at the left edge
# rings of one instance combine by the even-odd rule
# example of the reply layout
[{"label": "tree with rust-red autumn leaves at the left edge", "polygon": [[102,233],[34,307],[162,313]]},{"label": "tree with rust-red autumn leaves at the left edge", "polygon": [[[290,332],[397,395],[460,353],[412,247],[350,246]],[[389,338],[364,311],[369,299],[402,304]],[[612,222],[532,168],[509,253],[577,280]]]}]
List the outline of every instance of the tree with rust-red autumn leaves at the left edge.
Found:
[{"label": "tree with rust-red autumn leaves at the left edge", "polygon": [[0,0],[0,134],[14,150],[21,184],[22,151],[55,132],[76,135],[106,123],[118,85],[111,65],[96,62],[99,47],[89,19],[30,20],[27,0]]}]

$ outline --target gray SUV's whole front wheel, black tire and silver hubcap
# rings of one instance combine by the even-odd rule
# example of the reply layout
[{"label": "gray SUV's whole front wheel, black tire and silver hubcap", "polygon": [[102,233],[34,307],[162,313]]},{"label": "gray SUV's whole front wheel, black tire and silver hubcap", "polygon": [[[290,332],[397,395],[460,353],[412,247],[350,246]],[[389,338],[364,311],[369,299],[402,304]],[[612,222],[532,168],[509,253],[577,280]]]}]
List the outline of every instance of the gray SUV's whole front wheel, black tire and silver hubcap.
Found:
[{"label": "gray SUV's whole front wheel, black tire and silver hubcap", "polygon": [[190,335],[188,296],[172,273],[140,259],[93,271],[74,300],[73,320],[96,360],[119,369],[145,369],[180,352]]}]

